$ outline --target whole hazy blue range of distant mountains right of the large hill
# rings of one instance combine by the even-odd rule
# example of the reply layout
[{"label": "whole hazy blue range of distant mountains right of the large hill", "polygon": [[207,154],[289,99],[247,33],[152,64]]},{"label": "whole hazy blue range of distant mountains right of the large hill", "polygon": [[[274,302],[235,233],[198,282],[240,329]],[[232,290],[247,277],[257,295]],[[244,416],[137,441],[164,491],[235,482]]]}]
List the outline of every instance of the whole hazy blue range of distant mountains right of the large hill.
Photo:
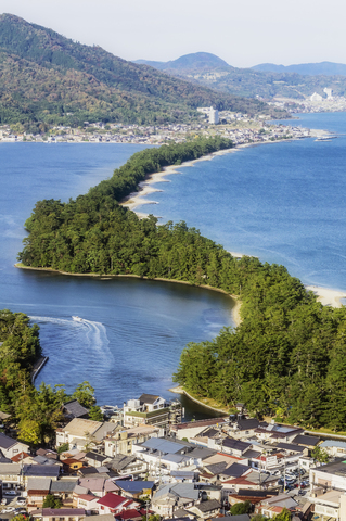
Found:
[{"label": "whole hazy blue range of distant mountains right of the large hill", "polygon": [[322,62],[300,65],[260,64],[236,68],[207,52],[185,54],[169,62],[139,60],[172,76],[189,79],[222,92],[266,100],[285,97],[303,100],[329,87],[336,96],[346,91],[346,65]]}]

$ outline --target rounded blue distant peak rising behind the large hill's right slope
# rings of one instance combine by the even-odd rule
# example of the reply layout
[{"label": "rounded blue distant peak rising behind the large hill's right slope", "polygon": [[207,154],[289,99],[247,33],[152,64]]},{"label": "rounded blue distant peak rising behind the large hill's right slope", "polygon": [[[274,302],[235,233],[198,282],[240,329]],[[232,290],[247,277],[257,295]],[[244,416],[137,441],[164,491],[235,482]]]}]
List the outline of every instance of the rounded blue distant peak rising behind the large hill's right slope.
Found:
[{"label": "rounded blue distant peak rising behind the large hill's right slope", "polygon": [[217,71],[220,68],[233,68],[223,60],[209,52],[184,54],[169,62],[137,60],[134,63],[150,65],[159,71]]}]

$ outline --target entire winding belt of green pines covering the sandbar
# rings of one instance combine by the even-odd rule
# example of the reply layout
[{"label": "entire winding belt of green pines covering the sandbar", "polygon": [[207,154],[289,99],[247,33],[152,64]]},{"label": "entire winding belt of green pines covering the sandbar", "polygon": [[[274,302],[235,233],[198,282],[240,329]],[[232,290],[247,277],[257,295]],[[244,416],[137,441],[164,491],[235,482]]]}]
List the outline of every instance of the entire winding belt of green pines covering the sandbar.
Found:
[{"label": "entire winding belt of green pines covering the sandbar", "polygon": [[323,307],[283,266],[233,258],[184,223],[140,220],[117,201],[149,173],[230,147],[216,138],[136,153],[76,201],[41,201],[20,259],[71,272],[134,274],[208,284],[240,295],[242,323],[182,352],[176,381],[253,414],[333,429],[346,425],[346,312]]}]

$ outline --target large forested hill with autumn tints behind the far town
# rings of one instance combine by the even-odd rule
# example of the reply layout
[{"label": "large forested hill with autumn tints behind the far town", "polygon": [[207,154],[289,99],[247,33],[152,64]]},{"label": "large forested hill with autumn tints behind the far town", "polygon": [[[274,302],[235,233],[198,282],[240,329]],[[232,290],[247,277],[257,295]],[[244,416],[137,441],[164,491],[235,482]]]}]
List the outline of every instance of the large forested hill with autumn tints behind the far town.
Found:
[{"label": "large forested hill with autumn tints behind the far town", "polygon": [[274,115],[257,100],[216,92],[0,15],[1,123],[164,123],[187,119],[201,105]]}]

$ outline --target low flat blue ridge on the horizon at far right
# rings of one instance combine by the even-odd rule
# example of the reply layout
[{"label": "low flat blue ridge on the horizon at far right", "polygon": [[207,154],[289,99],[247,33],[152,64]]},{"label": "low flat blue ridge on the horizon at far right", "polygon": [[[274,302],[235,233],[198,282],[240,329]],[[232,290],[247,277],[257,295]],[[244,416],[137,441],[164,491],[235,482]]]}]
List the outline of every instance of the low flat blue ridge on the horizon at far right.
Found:
[{"label": "low flat blue ridge on the horizon at far right", "polygon": [[274,65],[261,63],[252,67],[262,73],[297,73],[306,76],[346,76],[346,65],[343,63],[321,62],[300,63],[297,65]]}]

